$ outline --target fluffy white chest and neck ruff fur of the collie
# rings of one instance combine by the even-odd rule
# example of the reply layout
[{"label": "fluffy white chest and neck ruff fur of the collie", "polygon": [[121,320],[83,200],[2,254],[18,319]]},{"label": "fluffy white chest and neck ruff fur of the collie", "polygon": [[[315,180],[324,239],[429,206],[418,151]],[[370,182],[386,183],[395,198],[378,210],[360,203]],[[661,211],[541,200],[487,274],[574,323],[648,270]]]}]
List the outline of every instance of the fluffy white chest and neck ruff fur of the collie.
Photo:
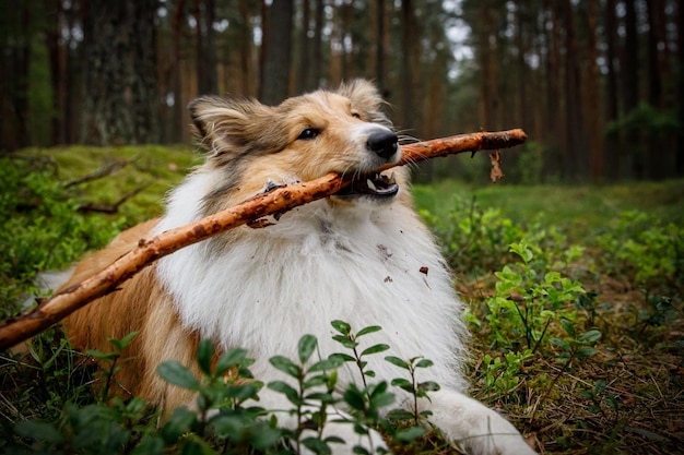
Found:
[{"label": "fluffy white chest and neck ruff fur of the collie", "polygon": [[[191,193],[172,196],[157,230],[191,220],[180,215],[192,216],[188,208],[198,201],[188,201]],[[162,283],[189,328],[223,348],[249,349],[263,360],[255,366],[258,376],[273,355],[294,359],[304,334],[318,337],[323,356],[343,350],[331,339],[332,320],[356,331],[380,325],[382,332],[367,343],[387,343],[404,359],[425,356],[440,366],[429,379],[462,388],[456,369],[462,308],[432,235],[413,211],[318,201],[274,226],[239,229],[231,241],[210,240],[160,261]],[[400,373],[379,357],[369,359],[378,376]]]}]

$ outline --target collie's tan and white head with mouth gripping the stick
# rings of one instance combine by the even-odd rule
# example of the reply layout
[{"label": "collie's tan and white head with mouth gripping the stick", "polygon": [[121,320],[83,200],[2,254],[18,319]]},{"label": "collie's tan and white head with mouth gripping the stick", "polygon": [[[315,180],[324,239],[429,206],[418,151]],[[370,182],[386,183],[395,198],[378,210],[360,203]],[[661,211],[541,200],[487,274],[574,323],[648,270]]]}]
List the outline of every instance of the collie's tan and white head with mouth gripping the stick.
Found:
[{"label": "collie's tan and white head with mouth gripping the stick", "polygon": [[399,192],[394,176],[401,182],[403,171],[376,172],[401,154],[382,105],[376,87],[363,80],[275,107],[219,96],[196,99],[190,115],[209,153],[205,166],[222,171],[205,203],[220,209],[256,194],[269,180],[293,183],[331,171],[354,176],[334,201],[393,201]]}]

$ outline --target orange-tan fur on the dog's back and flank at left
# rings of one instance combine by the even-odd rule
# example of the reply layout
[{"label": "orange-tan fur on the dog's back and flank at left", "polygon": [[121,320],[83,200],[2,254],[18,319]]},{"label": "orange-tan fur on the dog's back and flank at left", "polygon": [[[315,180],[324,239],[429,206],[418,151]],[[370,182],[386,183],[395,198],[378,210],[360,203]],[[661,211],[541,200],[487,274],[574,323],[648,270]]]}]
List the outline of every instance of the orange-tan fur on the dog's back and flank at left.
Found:
[{"label": "orange-tan fur on the dog's back and flank at left", "polygon": [[[90,278],[93,271],[105,268],[135,248],[138,241],[146,237],[157,221],[152,219],[132,227],[121,232],[104,250],[83,259],[61,289]],[[134,343],[123,351],[125,368],[115,376],[117,387],[121,393],[140,395],[173,409],[189,403],[191,395],[179,387],[169,386],[156,374],[155,369],[167,359],[194,366],[199,336],[180,326],[176,310],[153,275],[154,267],[143,270],[119,290],[85,306],[64,322],[73,346],[103,352],[111,350],[108,338],[121,339],[131,332],[138,332]],[[199,371],[196,372],[199,374]]]}]

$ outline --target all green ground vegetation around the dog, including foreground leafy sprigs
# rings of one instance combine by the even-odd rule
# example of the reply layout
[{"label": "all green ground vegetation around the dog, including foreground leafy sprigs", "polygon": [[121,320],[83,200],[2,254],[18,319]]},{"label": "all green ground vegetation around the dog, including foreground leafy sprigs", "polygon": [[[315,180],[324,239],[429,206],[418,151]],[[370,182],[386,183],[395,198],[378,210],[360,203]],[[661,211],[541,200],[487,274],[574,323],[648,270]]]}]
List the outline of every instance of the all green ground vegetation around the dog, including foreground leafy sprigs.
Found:
[{"label": "all green ground vegetation around the dog, including foreground leafy sprigs", "polygon": [[[180,176],[166,164],[188,165],[161,147],[51,152],[59,172],[54,161],[36,155],[0,161],[5,314],[31,290],[36,272],[61,268],[121,227],[158,214],[157,201]],[[64,189],[63,181],[118,153],[141,157],[116,176],[117,183],[113,177]],[[94,197],[116,201],[148,178],[160,180],[114,217],[75,211]],[[467,372],[474,379],[473,394],[504,406],[545,452],[679,447],[669,436],[676,424],[669,416],[682,406],[676,374],[684,358],[682,188],[672,181],[477,190],[443,182],[416,189],[422,215],[439,237],[469,303],[474,354],[465,368],[472,369]],[[341,347],[332,357],[319,358],[317,340],[305,335],[294,359],[271,359],[286,380],[268,386],[283,394],[290,409],[262,409],[251,399],[263,385],[251,378],[251,360],[241,349],[216,360],[213,346],[203,342],[192,368],[160,366],[169,383],[197,393],[197,404],[158,424],[144,402],[109,392],[130,338],[113,339],[110,351],[91,351],[91,357],[72,350],[58,328],[50,330],[35,338],[27,357],[0,355],[0,452],[286,454],[298,444],[327,453],[340,442],[321,438],[318,424],[330,424],[332,407],[340,406],[350,414],[335,424],[359,434],[378,429],[398,453],[456,453],[425,432],[427,416],[415,406],[436,388],[415,380],[429,361],[390,357],[398,378],[374,382],[369,360],[389,349],[373,343],[380,327],[355,331],[343,321],[332,327]],[[97,372],[93,358],[101,366]],[[337,370],[346,366],[358,381],[339,390]],[[413,408],[392,409],[393,395],[413,397]],[[652,418],[654,409],[662,418]],[[280,412],[298,415],[299,427],[281,428]],[[283,438],[293,443],[283,445]]]}]

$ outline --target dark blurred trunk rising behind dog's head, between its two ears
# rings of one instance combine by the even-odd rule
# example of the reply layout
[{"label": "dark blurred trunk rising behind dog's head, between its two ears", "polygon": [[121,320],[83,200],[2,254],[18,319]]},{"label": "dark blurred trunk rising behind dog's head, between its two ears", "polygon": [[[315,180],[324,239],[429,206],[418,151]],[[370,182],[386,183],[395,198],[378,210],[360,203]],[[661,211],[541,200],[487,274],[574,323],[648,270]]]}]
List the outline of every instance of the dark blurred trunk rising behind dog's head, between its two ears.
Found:
[{"label": "dark blurred trunk rising behind dog's head, between its two ears", "polygon": [[290,95],[293,9],[290,0],[273,0],[266,8],[260,98],[267,105],[280,104]]}]

